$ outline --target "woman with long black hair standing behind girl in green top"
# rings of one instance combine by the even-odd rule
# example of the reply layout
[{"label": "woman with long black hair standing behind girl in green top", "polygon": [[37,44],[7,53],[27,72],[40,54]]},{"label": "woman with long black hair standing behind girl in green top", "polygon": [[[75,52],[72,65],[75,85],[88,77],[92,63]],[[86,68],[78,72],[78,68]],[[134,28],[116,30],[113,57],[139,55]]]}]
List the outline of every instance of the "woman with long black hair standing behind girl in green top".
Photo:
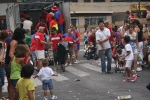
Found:
[{"label": "woman with long black hair standing behind girl in green top", "polygon": [[14,58],[14,52],[18,44],[25,44],[25,30],[22,28],[16,28],[14,34],[12,36],[12,40],[10,44],[7,46],[6,50],[6,57],[5,57],[5,71],[8,80],[8,92],[9,92],[9,99],[14,100],[14,93],[13,93],[13,84],[10,81],[10,62]]}]

